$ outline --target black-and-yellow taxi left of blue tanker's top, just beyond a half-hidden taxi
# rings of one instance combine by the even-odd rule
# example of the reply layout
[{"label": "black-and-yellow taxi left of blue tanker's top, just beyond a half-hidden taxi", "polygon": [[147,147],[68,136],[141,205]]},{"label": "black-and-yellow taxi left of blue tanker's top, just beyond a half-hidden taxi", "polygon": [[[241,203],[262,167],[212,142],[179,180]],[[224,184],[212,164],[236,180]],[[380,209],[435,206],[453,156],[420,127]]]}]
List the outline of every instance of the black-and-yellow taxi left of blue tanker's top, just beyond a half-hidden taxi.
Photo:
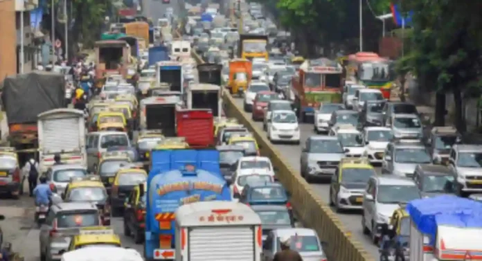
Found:
[{"label": "black-and-yellow taxi left of blue tanker's top, just beyond a half-hidden taxi", "polygon": [[116,172],[109,195],[109,208],[113,216],[117,216],[124,208],[125,198],[130,195],[134,187],[148,179],[148,173],[142,164],[130,164]]}]

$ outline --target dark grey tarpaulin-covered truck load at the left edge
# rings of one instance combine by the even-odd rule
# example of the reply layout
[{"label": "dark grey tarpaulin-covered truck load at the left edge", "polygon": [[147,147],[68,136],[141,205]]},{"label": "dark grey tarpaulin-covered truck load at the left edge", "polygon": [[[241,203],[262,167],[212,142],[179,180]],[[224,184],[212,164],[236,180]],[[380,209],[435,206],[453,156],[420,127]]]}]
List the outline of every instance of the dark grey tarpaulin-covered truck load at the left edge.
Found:
[{"label": "dark grey tarpaulin-covered truck load at the left edge", "polygon": [[8,124],[36,123],[38,114],[64,107],[64,95],[64,75],[34,72],[5,78],[1,99]]}]

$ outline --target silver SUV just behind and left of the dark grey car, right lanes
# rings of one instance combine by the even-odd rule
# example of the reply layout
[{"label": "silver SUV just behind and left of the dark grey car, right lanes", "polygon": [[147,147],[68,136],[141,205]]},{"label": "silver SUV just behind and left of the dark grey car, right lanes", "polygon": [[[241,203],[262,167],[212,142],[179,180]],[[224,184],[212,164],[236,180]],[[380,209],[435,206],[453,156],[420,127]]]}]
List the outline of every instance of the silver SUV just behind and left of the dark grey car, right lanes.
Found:
[{"label": "silver SUV just behind and left of the dark grey car, right lanes", "polygon": [[389,143],[385,148],[382,173],[413,177],[418,164],[431,162],[427,148],[420,141],[397,140]]}]

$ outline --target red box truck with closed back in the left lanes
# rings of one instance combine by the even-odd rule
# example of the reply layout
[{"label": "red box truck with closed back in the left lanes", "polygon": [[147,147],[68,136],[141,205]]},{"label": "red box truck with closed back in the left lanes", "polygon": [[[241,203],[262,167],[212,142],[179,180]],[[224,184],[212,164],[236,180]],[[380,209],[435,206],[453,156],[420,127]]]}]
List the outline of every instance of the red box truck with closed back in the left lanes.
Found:
[{"label": "red box truck with closed back in the left lanes", "polygon": [[214,116],[211,109],[177,109],[177,136],[190,147],[214,147]]}]

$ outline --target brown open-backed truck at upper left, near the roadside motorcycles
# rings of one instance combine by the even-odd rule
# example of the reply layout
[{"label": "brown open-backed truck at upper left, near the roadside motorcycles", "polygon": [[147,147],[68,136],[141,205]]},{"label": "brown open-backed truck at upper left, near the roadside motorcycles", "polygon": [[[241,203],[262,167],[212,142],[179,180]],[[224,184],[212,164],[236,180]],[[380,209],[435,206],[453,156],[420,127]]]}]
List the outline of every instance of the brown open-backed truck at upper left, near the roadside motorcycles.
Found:
[{"label": "brown open-backed truck at upper left, near the roadside motorcycles", "polygon": [[121,71],[125,73],[125,66],[128,62],[129,54],[127,53],[127,42],[121,40],[107,40],[96,42],[96,64],[99,73],[102,75],[107,71]]}]

